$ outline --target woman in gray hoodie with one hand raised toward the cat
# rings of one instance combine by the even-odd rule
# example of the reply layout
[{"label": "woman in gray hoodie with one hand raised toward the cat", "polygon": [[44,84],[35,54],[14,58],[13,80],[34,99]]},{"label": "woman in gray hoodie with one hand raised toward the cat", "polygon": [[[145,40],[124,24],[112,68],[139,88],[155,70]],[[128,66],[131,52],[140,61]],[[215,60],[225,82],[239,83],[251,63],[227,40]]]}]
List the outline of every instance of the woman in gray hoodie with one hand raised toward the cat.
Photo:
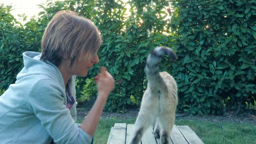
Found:
[{"label": "woman in gray hoodie with one hand raised toward the cat", "polygon": [[75,77],[99,62],[97,27],[72,11],[48,23],[39,52],[24,52],[24,68],[0,97],[0,143],[91,143],[109,93],[112,75],[95,76],[97,98],[84,121],[75,123]]}]

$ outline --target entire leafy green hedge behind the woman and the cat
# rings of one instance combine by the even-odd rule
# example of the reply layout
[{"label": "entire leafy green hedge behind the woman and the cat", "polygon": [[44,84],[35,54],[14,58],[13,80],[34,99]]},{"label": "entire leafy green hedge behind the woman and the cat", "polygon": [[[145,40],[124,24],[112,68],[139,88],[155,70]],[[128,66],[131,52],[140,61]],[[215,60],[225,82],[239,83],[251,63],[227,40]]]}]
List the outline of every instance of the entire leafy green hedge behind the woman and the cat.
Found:
[{"label": "entire leafy green hedge behind the woman and the cat", "polygon": [[44,28],[56,11],[74,10],[95,23],[103,40],[100,63],[77,79],[80,103],[96,98],[92,78],[103,65],[117,82],[106,109],[137,107],[147,83],[146,58],[159,45],[177,52],[177,62],[164,57],[160,69],[177,80],[179,111],[220,115],[255,103],[254,1],[66,0],[39,6],[44,9],[40,17],[25,26],[9,14],[10,7],[1,6],[0,89],[15,81],[22,52],[39,51]]}]

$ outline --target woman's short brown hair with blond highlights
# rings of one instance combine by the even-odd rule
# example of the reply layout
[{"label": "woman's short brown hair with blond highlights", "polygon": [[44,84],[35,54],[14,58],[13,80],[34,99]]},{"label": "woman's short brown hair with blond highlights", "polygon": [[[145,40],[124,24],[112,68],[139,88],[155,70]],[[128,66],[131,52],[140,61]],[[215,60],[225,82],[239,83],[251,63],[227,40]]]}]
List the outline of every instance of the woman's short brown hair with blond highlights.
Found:
[{"label": "woman's short brown hair with blond highlights", "polygon": [[72,67],[77,60],[92,58],[101,43],[100,33],[89,19],[73,11],[59,11],[44,31],[41,59],[58,66],[65,57]]}]

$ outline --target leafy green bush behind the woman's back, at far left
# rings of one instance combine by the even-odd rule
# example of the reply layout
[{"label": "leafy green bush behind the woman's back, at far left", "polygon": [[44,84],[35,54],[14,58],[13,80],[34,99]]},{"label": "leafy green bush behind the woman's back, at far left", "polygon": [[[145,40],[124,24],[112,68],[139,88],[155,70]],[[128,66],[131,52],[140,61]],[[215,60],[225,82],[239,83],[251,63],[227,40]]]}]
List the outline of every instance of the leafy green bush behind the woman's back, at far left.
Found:
[{"label": "leafy green bush behind the woman's back, at far left", "polygon": [[[25,28],[10,14],[10,10],[11,6],[0,5],[0,90],[15,82],[23,64],[21,53],[39,49],[38,29],[34,27],[36,21],[31,19]],[[22,18],[26,19],[25,16]]]}]

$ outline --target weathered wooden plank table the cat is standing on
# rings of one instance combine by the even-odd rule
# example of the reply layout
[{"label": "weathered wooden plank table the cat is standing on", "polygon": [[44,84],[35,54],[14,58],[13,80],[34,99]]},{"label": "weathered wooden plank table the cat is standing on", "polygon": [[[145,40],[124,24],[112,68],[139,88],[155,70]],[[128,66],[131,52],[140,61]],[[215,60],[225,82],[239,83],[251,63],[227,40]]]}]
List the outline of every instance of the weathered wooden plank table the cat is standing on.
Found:
[{"label": "weathered wooden plank table the cat is standing on", "polygon": [[[131,136],[133,134],[134,127],[134,124],[115,123],[114,127],[112,127],[110,130],[110,134],[108,136],[108,144],[129,144],[132,139]],[[144,133],[141,140],[142,144],[160,143],[159,139],[155,139],[152,131],[152,128],[148,128],[146,133]],[[188,127],[188,125],[174,125],[170,138],[173,144],[203,143],[202,140],[195,134],[195,132]]]}]

